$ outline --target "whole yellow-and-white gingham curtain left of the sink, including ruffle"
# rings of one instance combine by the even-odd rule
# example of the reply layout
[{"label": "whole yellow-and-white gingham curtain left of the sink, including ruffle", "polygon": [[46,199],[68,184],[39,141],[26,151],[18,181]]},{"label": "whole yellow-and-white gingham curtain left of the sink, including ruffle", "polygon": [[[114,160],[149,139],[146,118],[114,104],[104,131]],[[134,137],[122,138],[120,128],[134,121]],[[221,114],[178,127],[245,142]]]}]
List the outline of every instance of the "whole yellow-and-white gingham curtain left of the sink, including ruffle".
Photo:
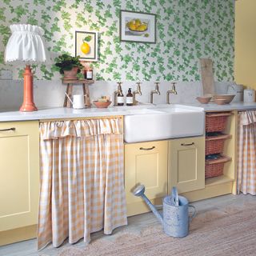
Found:
[{"label": "whole yellow-and-white gingham curtain left of the sink, including ruffle", "polygon": [[41,122],[38,249],[126,225],[120,118]]}]

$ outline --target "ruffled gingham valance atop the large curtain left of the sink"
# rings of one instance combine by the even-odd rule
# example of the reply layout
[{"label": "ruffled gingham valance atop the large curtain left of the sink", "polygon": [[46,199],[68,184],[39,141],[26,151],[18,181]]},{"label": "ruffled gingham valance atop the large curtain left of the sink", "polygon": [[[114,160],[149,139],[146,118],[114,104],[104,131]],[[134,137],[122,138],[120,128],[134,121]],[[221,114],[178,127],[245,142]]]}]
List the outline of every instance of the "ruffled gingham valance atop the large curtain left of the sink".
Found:
[{"label": "ruffled gingham valance atop the large curtain left of the sink", "polygon": [[89,137],[100,134],[122,134],[120,118],[41,122],[43,140],[66,136]]}]

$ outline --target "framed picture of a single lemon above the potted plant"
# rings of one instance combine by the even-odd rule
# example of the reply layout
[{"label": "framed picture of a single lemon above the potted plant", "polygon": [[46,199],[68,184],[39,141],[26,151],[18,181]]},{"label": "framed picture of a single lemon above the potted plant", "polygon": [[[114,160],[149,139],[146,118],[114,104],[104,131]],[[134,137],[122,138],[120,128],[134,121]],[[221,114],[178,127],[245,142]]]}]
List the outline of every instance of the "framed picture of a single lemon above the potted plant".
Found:
[{"label": "framed picture of a single lemon above the potted plant", "polygon": [[98,32],[75,31],[75,56],[83,61],[98,61]]}]

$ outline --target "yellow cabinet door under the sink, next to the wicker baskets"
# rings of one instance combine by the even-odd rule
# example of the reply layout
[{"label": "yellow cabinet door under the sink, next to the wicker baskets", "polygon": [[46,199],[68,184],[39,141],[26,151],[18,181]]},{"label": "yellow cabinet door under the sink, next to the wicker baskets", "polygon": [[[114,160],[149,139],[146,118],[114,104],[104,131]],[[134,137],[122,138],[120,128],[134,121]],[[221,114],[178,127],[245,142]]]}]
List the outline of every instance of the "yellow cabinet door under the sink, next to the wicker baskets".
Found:
[{"label": "yellow cabinet door under the sink, next to the wicker baskets", "polygon": [[177,138],[169,141],[168,180],[179,193],[205,187],[205,138]]}]

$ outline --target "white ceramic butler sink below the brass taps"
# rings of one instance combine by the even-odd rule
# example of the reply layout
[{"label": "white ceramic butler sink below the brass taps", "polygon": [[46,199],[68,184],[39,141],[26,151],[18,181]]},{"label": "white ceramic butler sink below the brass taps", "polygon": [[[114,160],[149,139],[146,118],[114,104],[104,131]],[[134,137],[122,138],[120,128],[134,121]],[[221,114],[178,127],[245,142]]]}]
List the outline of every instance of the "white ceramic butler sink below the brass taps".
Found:
[{"label": "white ceramic butler sink below the brass taps", "polygon": [[126,142],[199,136],[204,131],[201,108],[171,105],[154,110],[127,113],[124,117]]}]

